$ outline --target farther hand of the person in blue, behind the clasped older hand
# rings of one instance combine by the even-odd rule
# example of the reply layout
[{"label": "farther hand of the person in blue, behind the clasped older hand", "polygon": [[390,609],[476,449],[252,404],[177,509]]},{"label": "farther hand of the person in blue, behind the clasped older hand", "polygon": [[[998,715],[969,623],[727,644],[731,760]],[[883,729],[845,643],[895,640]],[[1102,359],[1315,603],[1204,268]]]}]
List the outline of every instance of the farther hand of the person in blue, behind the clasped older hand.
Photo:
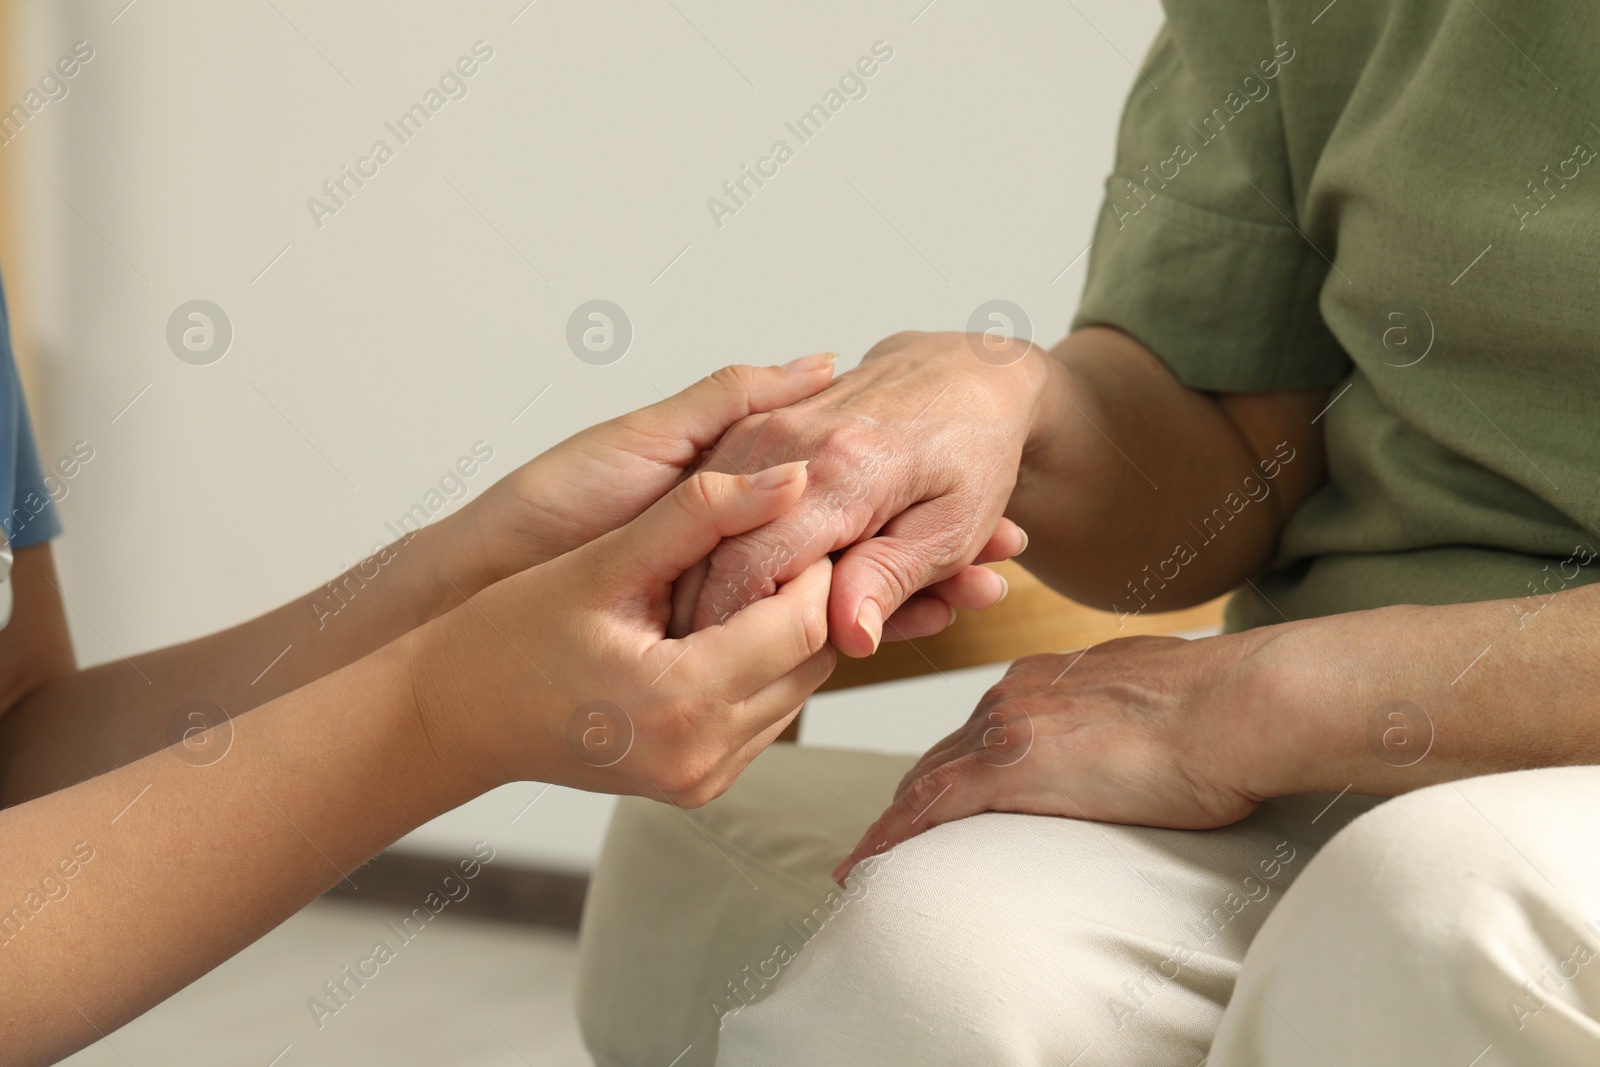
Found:
[{"label": "farther hand of the person in blue, behind the clasped older hand", "polygon": [[784,366],[725,366],[675,397],[568,437],[446,520],[456,526],[451,569],[475,592],[632,522],[730,426],[805,400],[832,378],[830,354]]}]

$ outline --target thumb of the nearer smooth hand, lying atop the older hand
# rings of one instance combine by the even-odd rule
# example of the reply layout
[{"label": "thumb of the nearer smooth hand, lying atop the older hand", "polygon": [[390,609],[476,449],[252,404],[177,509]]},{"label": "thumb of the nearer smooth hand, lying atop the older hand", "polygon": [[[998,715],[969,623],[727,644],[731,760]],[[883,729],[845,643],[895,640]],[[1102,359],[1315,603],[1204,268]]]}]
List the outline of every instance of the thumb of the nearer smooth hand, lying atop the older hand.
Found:
[{"label": "thumb of the nearer smooth hand, lying atop the older hand", "polygon": [[674,582],[723,537],[755,530],[787,512],[805,493],[806,462],[746,477],[702,470],[685,478],[643,515],[595,542],[627,581]]}]

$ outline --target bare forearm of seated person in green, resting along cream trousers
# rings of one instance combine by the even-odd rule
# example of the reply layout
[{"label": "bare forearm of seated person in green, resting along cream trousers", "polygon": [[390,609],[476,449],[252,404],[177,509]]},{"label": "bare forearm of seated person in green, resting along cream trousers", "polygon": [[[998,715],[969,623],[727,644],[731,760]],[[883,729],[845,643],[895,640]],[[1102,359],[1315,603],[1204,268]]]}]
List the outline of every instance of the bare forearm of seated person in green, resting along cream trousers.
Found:
[{"label": "bare forearm of seated person in green, resting along cream trousers", "polygon": [[1600,761],[1600,585],[1270,630],[1250,701],[1216,731],[1216,761],[1251,795],[1390,797]]}]

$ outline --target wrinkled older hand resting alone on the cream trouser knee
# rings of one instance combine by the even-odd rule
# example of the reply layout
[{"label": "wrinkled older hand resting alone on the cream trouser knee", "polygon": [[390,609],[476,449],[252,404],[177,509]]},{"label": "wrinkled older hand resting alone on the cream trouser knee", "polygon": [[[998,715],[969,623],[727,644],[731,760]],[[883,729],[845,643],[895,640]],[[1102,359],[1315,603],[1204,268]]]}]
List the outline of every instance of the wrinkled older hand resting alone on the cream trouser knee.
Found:
[{"label": "wrinkled older hand resting alone on the cream trouser knee", "polygon": [[936,744],[835,870],[981,811],[1174,829],[1227,825],[1267,795],[1253,781],[1267,632],[1128,637],[1011,664]]}]

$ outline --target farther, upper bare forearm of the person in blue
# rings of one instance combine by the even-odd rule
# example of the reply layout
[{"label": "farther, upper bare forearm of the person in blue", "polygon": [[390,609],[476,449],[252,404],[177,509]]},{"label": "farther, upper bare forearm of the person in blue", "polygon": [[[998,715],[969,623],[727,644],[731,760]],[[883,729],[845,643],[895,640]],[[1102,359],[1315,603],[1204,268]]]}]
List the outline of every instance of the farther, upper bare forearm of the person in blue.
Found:
[{"label": "farther, upper bare forearm of the person in blue", "polygon": [[[0,806],[82,782],[322,678],[472,595],[443,520],[256,619],[182,645],[61,673],[0,717]],[[19,553],[19,600],[58,597],[46,547]],[[459,590],[459,592],[458,592]]]}]

